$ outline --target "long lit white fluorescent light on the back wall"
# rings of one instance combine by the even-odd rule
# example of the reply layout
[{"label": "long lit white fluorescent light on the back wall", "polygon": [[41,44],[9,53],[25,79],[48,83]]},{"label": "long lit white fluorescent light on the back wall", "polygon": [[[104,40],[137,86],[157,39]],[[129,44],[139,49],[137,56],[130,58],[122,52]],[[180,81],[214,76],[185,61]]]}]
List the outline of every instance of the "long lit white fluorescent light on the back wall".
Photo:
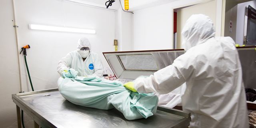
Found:
[{"label": "long lit white fluorescent light on the back wall", "polygon": [[96,33],[95,30],[90,30],[90,29],[54,27],[54,26],[45,26],[45,25],[37,25],[37,24],[28,24],[28,29],[60,31],[60,32],[79,32],[79,33],[89,33],[89,34]]}]

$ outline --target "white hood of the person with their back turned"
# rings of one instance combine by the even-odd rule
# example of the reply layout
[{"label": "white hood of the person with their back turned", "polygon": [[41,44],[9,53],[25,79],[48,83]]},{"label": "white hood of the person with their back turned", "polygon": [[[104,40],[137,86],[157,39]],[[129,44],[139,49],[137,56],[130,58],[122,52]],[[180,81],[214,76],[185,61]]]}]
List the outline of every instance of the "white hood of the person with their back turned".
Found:
[{"label": "white hood of the person with their back turned", "polygon": [[194,14],[188,18],[183,30],[182,47],[188,50],[198,44],[204,43],[215,35],[215,28],[209,16],[204,14]]}]

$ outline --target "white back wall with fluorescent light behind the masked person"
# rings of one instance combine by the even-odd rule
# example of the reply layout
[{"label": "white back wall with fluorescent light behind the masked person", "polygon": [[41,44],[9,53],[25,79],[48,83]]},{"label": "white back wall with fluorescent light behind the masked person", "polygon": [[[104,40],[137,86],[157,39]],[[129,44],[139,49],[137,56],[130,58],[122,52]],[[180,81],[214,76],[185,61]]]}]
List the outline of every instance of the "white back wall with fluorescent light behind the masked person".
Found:
[{"label": "white back wall with fluorescent light behind the masked person", "polygon": [[[76,50],[78,39],[81,37],[90,40],[92,52],[96,52],[104,66],[107,66],[102,52],[113,51],[114,11],[58,0],[15,0],[15,7],[20,46],[29,44],[31,47],[27,49],[26,58],[35,90],[57,87],[56,79],[60,77],[56,72],[58,61],[68,52]],[[94,29],[96,34],[30,30],[28,24]],[[23,55],[20,55],[20,58],[22,78],[26,79]],[[23,91],[31,91],[27,80],[22,84]]]}]

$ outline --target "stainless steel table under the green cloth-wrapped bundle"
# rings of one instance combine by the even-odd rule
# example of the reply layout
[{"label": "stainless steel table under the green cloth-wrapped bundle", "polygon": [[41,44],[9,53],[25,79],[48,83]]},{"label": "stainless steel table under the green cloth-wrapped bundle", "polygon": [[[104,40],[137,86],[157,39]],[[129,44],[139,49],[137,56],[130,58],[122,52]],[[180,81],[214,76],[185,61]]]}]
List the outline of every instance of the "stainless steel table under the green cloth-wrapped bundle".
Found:
[{"label": "stainless steel table under the green cloth-wrapped bundle", "polygon": [[100,110],[72,104],[58,88],[12,94],[16,104],[18,127],[20,109],[34,120],[35,128],[187,128],[190,113],[158,106],[148,118],[126,120],[116,109]]}]

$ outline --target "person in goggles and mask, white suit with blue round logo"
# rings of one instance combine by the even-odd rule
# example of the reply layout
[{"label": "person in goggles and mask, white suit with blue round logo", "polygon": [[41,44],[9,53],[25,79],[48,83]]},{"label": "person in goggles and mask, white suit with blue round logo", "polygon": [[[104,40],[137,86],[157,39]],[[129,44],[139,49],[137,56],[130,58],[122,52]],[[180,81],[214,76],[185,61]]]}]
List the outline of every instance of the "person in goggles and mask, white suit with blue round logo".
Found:
[{"label": "person in goggles and mask, white suit with blue round logo", "polygon": [[73,68],[78,71],[78,76],[98,76],[103,75],[103,64],[98,54],[92,52],[92,47],[87,38],[78,40],[77,50],[68,53],[58,63],[57,71],[62,74],[63,71],[68,71]]}]

